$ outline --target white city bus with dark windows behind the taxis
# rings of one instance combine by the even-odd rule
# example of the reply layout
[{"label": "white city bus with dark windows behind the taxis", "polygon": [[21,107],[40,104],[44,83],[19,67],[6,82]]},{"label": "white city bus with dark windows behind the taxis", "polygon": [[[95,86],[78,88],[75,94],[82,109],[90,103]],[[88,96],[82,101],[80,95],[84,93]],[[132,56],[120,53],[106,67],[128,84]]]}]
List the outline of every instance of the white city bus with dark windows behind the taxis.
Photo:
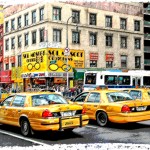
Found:
[{"label": "white city bus with dark windows behind the taxis", "polygon": [[109,89],[128,89],[136,86],[150,87],[150,71],[85,71],[84,90],[95,89],[98,86]]}]

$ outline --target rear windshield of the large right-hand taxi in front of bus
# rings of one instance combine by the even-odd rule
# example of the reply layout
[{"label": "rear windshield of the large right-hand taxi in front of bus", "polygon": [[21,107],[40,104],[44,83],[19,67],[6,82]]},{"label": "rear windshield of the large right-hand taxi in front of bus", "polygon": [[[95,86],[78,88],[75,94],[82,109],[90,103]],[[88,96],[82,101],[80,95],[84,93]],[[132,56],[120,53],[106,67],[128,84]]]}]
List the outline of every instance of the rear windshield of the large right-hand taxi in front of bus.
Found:
[{"label": "rear windshield of the large right-hand taxi in front of bus", "polygon": [[134,100],[130,96],[130,94],[128,94],[126,92],[110,92],[110,93],[107,93],[106,95],[110,102]]}]

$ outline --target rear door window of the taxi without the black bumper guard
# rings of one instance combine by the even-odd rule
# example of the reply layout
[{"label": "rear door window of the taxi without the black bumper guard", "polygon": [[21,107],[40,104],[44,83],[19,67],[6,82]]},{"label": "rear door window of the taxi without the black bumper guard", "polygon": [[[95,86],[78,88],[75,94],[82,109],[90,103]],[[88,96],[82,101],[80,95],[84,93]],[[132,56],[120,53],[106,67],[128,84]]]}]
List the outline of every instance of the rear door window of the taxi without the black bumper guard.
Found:
[{"label": "rear door window of the taxi without the black bumper guard", "polygon": [[90,103],[99,103],[100,102],[100,93],[90,93],[87,102]]}]

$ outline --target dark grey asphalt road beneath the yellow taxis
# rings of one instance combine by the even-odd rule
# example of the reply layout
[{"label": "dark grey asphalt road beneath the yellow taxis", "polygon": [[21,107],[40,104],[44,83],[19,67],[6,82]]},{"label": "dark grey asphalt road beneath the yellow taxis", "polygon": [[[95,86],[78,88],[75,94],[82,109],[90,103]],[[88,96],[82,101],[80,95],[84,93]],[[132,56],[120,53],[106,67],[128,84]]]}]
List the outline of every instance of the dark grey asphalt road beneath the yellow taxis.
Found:
[{"label": "dark grey asphalt road beneath the yellow taxis", "polygon": [[[6,135],[6,133],[10,135]],[[38,132],[30,138],[24,138],[20,134],[19,128],[0,126],[0,146],[87,143],[150,144],[150,121],[133,124],[111,124],[109,127],[99,127],[96,122],[90,121],[87,127],[74,129],[72,133]]]}]

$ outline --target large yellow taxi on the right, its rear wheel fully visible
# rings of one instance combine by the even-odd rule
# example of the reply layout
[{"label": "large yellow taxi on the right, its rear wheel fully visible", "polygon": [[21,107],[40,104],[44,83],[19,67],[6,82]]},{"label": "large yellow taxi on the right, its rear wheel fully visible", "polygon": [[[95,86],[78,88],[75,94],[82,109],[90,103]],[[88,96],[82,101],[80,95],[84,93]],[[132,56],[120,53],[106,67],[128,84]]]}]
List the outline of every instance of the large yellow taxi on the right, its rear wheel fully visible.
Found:
[{"label": "large yellow taxi on the right, its rear wheel fully visible", "polygon": [[89,119],[96,120],[99,126],[107,126],[110,122],[150,120],[150,101],[133,99],[124,91],[93,90],[83,92],[71,101],[82,105]]}]

